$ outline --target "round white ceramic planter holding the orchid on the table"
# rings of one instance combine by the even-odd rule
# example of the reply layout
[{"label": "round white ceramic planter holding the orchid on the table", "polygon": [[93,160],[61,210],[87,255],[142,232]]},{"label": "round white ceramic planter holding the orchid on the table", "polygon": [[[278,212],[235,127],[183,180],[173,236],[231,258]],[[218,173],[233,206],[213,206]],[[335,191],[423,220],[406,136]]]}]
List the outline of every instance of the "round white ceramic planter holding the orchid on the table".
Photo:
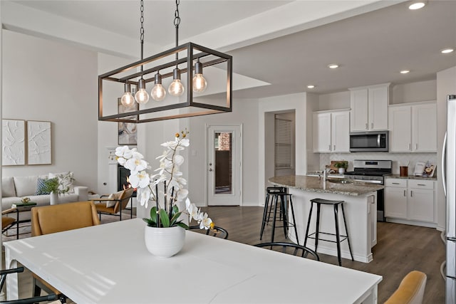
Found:
[{"label": "round white ceramic planter holding the orchid on the table", "polygon": [[157,228],[145,226],[144,241],[147,250],[159,258],[169,258],[182,249],[185,229],[180,226]]}]

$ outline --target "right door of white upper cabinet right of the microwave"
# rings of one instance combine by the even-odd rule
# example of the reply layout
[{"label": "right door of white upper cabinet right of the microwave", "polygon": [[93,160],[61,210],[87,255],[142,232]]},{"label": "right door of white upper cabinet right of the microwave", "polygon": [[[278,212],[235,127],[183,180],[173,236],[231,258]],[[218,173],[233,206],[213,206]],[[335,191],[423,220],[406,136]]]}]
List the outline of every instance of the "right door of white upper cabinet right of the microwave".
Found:
[{"label": "right door of white upper cabinet right of the microwave", "polygon": [[412,144],[415,152],[437,151],[437,105],[412,107]]}]

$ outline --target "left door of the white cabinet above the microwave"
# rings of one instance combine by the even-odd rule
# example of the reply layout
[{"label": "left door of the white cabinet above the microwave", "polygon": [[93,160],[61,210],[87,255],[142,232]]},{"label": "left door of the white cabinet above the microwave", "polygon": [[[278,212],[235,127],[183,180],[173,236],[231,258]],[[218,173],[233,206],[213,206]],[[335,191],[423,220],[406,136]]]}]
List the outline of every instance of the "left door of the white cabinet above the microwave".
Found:
[{"label": "left door of the white cabinet above the microwave", "polygon": [[350,92],[351,106],[351,131],[367,131],[368,130],[368,90],[351,90]]}]

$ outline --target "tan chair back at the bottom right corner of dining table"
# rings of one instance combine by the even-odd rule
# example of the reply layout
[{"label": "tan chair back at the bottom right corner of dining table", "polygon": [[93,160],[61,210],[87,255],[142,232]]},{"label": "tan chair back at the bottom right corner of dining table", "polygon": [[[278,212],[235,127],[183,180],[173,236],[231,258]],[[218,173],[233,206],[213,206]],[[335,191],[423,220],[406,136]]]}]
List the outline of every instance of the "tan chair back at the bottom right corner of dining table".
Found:
[{"label": "tan chair back at the bottom right corner of dining table", "polygon": [[385,304],[421,304],[425,294],[427,276],[421,271],[410,271]]}]

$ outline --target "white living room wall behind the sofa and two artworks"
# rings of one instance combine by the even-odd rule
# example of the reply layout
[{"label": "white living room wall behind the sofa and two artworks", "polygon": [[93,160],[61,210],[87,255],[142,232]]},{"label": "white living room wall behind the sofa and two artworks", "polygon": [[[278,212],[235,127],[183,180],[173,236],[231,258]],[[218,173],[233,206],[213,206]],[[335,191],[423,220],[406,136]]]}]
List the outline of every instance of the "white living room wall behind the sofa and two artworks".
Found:
[{"label": "white living room wall behind the sofa and two artworks", "polygon": [[3,167],[3,176],[73,171],[97,184],[97,55],[3,31],[2,118],[51,122],[52,164]]}]

